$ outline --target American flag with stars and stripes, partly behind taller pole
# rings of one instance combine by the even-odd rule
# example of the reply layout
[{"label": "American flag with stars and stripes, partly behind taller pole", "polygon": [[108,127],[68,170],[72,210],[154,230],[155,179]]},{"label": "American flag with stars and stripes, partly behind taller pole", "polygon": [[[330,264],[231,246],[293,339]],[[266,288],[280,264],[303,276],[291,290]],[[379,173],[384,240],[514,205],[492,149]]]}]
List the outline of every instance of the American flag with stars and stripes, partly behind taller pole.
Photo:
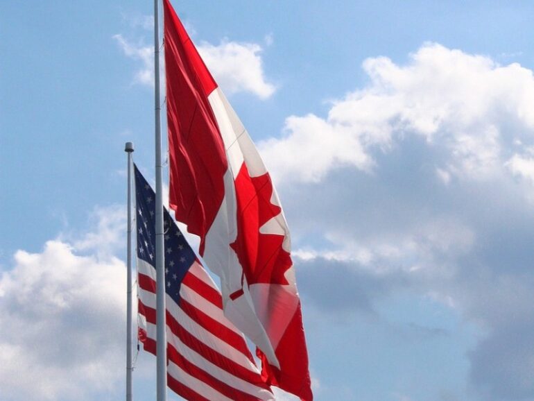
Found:
[{"label": "American flag with stars and stripes, partly behind taller pole", "polygon": [[[135,167],[139,340],[156,353],[155,194]],[[164,210],[167,379],[187,400],[274,400],[221,293]]]}]

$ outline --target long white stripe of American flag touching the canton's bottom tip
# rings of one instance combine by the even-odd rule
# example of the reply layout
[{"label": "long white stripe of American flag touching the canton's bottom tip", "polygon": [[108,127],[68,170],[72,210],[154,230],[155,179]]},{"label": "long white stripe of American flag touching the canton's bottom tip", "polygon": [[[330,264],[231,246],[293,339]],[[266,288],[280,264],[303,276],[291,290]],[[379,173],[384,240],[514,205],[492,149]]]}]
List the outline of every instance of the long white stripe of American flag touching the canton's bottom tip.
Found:
[{"label": "long white stripe of American flag touching the canton's bottom tip", "polygon": [[[144,305],[155,309],[154,293],[150,291],[144,291],[142,289],[140,291],[142,291],[142,293],[139,294],[141,302],[146,300],[147,303],[143,302]],[[239,352],[232,346],[228,345],[228,343],[226,343],[224,340],[220,339],[218,336],[216,336],[212,332],[209,332],[204,327],[193,321],[193,319],[187,316],[187,314],[182,311],[182,309],[178,305],[176,305],[173,298],[166,296],[165,302],[167,311],[169,311],[169,313],[175,318],[175,320],[178,321],[178,323],[184,328],[184,330],[189,332],[189,334],[191,334],[193,337],[196,337],[196,339],[202,341],[209,348],[212,348],[212,350],[218,352],[221,355],[224,355],[228,359],[231,359],[235,364],[246,368],[252,373],[259,374],[257,366],[255,364],[252,364],[252,361],[250,361],[250,359],[248,359],[246,355],[243,355],[242,352]]]}]

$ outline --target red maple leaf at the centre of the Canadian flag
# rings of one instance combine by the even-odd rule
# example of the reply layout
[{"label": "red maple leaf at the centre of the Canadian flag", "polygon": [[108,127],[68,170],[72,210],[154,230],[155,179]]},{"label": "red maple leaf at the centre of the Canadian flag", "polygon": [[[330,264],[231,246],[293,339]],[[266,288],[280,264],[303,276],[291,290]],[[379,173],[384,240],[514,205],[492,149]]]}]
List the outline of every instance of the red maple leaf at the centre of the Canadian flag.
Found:
[{"label": "red maple leaf at the centre of the Canadian flag", "polygon": [[[282,248],[284,235],[264,234],[259,229],[282,212],[271,203],[273,182],[268,173],[251,178],[243,163],[235,180],[237,237],[230,247],[236,252],[248,284],[289,284],[284,277],[291,256]],[[232,298],[242,291],[232,294]]]}]

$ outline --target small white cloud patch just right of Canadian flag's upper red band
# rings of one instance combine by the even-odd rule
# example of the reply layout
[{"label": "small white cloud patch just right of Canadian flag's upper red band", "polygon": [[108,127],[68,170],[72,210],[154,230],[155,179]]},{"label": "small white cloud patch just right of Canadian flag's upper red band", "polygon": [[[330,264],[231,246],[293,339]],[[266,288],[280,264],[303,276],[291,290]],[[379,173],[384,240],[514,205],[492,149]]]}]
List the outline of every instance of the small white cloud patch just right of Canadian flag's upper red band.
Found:
[{"label": "small white cloud patch just right of Canadian flag's upper red band", "polygon": [[198,46],[200,56],[225,92],[250,92],[267,99],[276,88],[266,81],[261,51],[259,44],[227,40],[217,46],[207,42]]}]

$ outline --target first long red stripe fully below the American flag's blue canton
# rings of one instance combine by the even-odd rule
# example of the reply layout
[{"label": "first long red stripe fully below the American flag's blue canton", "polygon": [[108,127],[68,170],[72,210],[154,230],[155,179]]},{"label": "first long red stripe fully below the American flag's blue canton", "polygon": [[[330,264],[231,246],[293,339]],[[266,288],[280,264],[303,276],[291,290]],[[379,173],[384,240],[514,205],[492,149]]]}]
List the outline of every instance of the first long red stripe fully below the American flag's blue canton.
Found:
[{"label": "first long red stripe fully below the American flag's blue canton", "polygon": [[[141,302],[141,301],[139,301]],[[144,312],[146,316],[146,321],[148,323],[156,324],[156,311],[153,308],[147,307],[144,305]],[[221,352],[214,350],[213,348],[208,347],[205,343],[197,339],[191,333],[176,321],[176,319],[167,311],[166,313],[166,323],[167,326],[171,329],[171,332],[184,343],[188,348],[202,355],[205,359],[212,362],[218,368],[226,370],[228,373],[239,377],[246,382],[255,384],[255,386],[261,387],[262,389],[268,389],[268,386],[263,382],[261,376],[258,373],[251,372],[247,368],[236,364],[232,359],[222,355]]]}]

